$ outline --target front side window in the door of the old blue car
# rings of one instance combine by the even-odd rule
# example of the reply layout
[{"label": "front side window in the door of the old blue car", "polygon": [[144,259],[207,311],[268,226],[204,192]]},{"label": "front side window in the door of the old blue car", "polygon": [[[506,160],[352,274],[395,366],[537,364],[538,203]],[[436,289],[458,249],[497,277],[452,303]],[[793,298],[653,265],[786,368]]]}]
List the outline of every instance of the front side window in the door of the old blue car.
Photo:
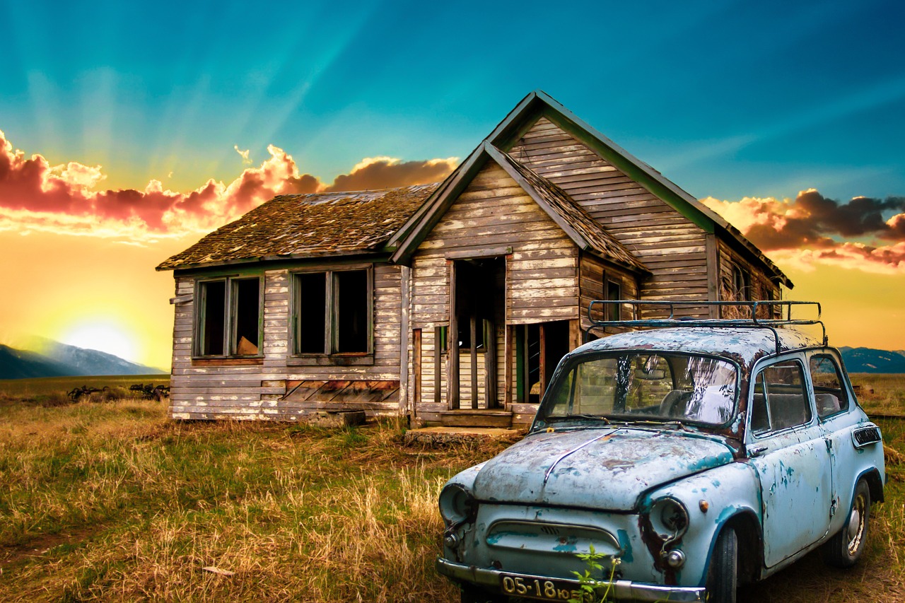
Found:
[{"label": "front side window in the door of the old blue car", "polygon": [[804,367],[796,360],[786,360],[761,370],[755,380],[751,430],[765,433],[810,421]]}]

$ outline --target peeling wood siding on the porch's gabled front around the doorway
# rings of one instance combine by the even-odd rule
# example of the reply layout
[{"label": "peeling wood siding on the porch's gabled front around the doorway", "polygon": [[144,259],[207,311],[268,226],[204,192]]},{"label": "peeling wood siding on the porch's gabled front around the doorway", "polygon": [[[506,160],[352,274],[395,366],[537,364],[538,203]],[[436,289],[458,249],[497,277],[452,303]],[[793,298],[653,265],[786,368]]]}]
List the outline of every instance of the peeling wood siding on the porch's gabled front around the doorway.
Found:
[{"label": "peeling wood siding on the porch's gabled front around the doorway", "polygon": [[[490,164],[453,202],[419,246],[412,261],[411,327],[423,329],[421,399],[417,416],[439,419],[446,409],[446,370],[436,366],[433,328],[449,324],[450,261],[447,254],[481,255],[488,248],[511,247],[506,257],[505,323],[578,318],[578,250],[537,203],[502,168]],[[461,257],[457,255],[457,257]],[[497,391],[505,395],[506,349],[503,324],[497,324]],[[470,404],[468,354],[462,351],[461,404]],[[481,358],[481,356],[479,356]],[[443,354],[442,362],[448,362]],[[434,375],[442,370],[442,396],[434,395]],[[479,378],[483,388],[482,376]],[[417,376],[414,376],[417,378]]]}]

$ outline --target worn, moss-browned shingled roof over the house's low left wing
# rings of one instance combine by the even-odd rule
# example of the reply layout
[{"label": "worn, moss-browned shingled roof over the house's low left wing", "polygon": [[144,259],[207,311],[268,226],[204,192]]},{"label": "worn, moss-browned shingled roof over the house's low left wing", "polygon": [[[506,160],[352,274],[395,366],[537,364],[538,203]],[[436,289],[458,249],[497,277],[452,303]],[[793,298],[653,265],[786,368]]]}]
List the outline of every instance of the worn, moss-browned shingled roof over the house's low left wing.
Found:
[{"label": "worn, moss-browned shingled roof over the house's low left wing", "polygon": [[376,251],[438,186],[276,196],[157,270]]}]

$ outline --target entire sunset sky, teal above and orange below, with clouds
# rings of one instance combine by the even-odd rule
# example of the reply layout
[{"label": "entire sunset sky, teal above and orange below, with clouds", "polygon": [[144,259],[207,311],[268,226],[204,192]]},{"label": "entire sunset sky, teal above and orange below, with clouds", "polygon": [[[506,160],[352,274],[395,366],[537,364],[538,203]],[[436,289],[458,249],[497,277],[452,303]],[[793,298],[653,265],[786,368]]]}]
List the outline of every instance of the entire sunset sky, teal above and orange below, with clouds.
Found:
[{"label": "entire sunset sky, teal above and orange below, with clouds", "polygon": [[271,196],[443,179],[541,89],[905,349],[905,5],[0,0],[0,342],[168,368],[154,267]]}]

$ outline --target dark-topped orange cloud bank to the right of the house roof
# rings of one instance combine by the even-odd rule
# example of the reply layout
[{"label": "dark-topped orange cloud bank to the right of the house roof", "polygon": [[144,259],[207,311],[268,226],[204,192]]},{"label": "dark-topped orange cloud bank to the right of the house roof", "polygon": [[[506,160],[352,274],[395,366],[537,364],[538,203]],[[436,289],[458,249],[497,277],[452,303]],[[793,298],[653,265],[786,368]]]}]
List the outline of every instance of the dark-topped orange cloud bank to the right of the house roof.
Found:
[{"label": "dark-topped orange cloud bank to the right of the house roof", "polygon": [[[774,259],[800,270],[824,263],[872,273],[905,273],[905,197],[860,196],[841,204],[811,188],[781,201],[708,197],[702,202]],[[884,219],[883,214],[890,212],[901,213]]]}]

